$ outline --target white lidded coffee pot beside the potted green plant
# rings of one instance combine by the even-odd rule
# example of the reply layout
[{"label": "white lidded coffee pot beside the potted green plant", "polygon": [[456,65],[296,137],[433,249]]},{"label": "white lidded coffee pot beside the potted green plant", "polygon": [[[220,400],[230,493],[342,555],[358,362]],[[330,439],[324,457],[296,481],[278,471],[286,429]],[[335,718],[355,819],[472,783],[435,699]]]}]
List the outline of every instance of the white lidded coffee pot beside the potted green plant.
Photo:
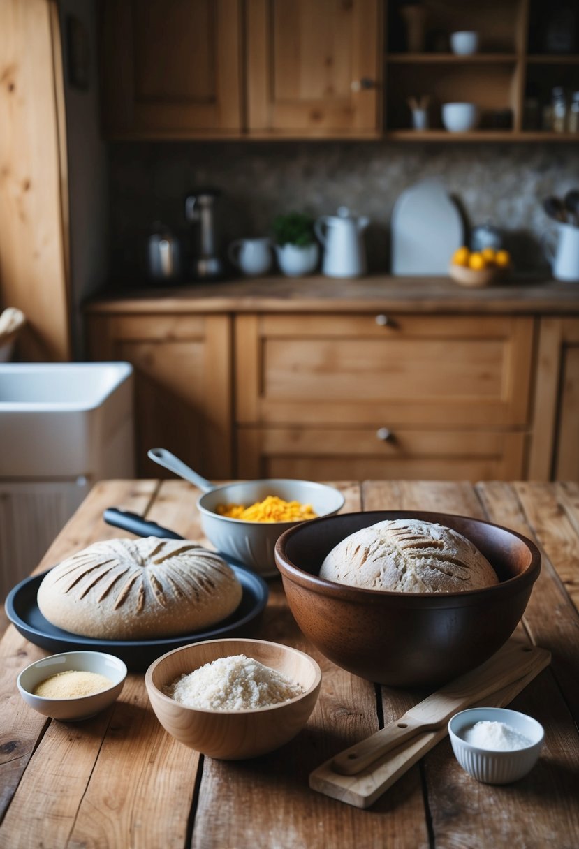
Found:
[{"label": "white lidded coffee pot beside the potted green plant", "polygon": [[324,274],[328,277],[360,277],[366,273],[363,231],[369,223],[366,216],[351,216],[346,206],[340,206],[335,216],[318,218],[314,229],[324,248]]}]

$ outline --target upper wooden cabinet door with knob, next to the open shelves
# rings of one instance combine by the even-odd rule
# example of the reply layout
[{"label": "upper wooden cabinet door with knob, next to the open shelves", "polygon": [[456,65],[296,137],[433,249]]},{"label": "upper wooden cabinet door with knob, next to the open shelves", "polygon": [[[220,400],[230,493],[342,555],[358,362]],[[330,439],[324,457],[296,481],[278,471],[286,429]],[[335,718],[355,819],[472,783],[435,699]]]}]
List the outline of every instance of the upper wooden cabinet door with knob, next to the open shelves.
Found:
[{"label": "upper wooden cabinet door with knob, next to the open shelves", "polygon": [[249,132],[379,135],[379,0],[247,0]]}]

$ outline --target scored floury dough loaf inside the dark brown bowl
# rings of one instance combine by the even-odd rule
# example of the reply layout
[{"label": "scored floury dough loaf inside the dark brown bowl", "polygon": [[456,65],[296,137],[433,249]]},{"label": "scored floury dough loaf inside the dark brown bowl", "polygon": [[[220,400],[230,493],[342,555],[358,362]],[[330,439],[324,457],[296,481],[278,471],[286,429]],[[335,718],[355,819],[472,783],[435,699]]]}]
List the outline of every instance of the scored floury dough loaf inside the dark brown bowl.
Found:
[{"label": "scored floury dough loaf inside the dark brown bowl", "polygon": [[456,593],[498,583],[478,548],[457,531],[432,522],[377,522],[338,543],[320,577],[366,589]]}]

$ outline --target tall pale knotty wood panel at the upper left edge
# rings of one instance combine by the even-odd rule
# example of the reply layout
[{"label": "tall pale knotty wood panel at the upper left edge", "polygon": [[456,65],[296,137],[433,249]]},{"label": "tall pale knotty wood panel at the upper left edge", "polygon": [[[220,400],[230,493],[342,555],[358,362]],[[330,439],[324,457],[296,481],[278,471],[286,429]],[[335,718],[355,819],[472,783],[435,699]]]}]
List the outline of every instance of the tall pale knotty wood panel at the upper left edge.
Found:
[{"label": "tall pale knotty wood panel at the upper left edge", "polygon": [[28,360],[70,358],[62,54],[53,0],[0,3],[0,300]]}]

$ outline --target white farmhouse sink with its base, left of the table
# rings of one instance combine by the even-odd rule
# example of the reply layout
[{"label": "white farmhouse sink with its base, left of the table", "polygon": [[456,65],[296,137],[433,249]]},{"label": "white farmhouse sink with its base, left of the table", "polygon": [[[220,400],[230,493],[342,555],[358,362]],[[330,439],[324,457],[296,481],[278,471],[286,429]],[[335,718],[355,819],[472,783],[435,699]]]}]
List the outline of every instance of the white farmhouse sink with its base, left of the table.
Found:
[{"label": "white farmhouse sink with its base, left of the table", "polygon": [[0,363],[0,600],[96,481],[133,478],[130,363]]}]

